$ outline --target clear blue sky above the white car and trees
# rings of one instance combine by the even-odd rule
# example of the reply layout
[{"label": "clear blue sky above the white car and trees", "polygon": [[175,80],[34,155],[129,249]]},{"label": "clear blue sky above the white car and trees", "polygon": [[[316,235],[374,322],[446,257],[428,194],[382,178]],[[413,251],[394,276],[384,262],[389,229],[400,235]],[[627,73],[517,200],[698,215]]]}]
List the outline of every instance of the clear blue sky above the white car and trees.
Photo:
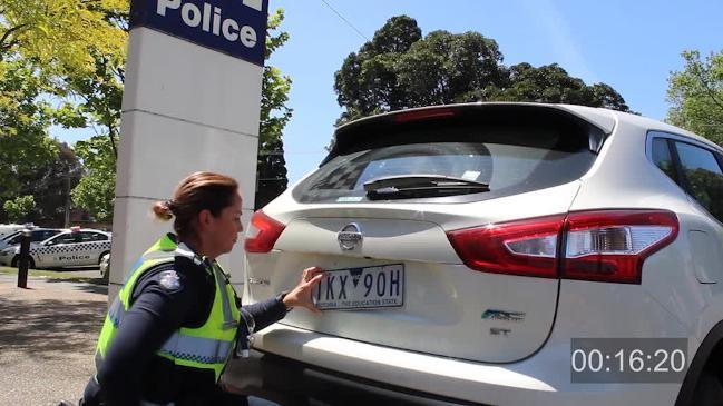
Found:
[{"label": "clear blue sky above the white car and trees", "polygon": [[[721,0],[325,0],[371,39],[399,14],[433,30],[478,31],[495,39],[505,65],[559,63],[586,83],[605,82],[644,116],[665,118],[667,77],[683,67],[681,51],[723,50]],[[334,72],[365,42],[322,0],[271,0],[283,8],[289,42],[270,61],[293,80],[294,116],[284,131],[289,179],[299,180],[325,156],[341,113]],[[67,142],[91,130],[52,133]]]}]

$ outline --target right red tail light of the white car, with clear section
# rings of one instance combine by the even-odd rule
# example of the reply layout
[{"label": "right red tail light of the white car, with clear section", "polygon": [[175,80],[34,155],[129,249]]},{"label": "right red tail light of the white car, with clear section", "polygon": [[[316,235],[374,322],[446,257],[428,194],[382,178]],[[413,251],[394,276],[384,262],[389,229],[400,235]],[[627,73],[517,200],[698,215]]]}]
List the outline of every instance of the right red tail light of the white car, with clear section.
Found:
[{"label": "right red tail light of the white car, with clear section", "polygon": [[495,274],[639,284],[645,258],[677,236],[666,210],[578,211],[449,231],[470,268]]}]

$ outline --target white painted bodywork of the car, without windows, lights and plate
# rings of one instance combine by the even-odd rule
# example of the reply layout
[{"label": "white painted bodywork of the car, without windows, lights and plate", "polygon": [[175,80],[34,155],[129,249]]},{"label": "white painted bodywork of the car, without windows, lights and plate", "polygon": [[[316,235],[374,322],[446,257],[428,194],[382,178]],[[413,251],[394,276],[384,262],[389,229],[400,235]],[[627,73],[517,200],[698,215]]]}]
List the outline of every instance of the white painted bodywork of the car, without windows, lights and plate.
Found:
[{"label": "white painted bodywork of the car, without windows, lights and plate", "polygon": [[[291,313],[256,333],[255,348],[312,367],[409,390],[495,405],[673,405],[682,383],[573,384],[570,339],[687,338],[687,362],[723,320],[723,225],[651,159],[655,137],[723,149],[634,115],[543,105],[608,136],[577,180],[496,199],[439,205],[394,200],[300,204],[290,188],[263,211],[285,226],[267,254],[247,254],[247,301],[292,287],[307,266],[326,269],[404,261],[402,308]],[[543,107],[541,106],[541,107]],[[363,122],[364,119],[360,120]],[[371,119],[373,120],[373,119]],[[300,181],[302,184],[304,180]],[[471,270],[444,232],[589,210],[675,214],[675,239],[645,259],[639,284],[548,279]],[[363,245],[342,251],[336,234],[361,225]],[[251,280],[250,279],[250,280]],[[495,323],[486,309],[525,314]],[[491,335],[502,326],[509,335]],[[695,384],[695,383],[693,383]]]}]

